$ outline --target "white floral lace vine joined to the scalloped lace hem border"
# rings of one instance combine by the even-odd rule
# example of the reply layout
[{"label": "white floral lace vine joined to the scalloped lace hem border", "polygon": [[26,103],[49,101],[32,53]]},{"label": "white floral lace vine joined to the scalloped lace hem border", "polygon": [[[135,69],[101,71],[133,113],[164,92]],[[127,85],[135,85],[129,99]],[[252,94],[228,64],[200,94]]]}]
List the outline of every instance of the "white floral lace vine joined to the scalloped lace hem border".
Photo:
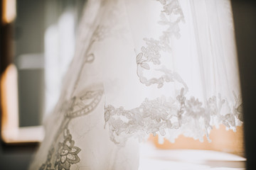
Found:
[{"label": "white floral lace vine joined to the scalloped lace hem border", "polygon": [[[180,38],[179,23],[184,21],[183,11],[177,0],[158,0],[163,6],[159,24],[166,30],[162,32],[159,39],[144,38],[146,45],[141,47],[137,55],[137,75],[139,81],[146,86],[153,84],[157,88],[164,83],[178,81],[183,85],[176,98],[167,100],[164,96],[154,100],[145,99],[137,108],[125,110],[122,106],[114,108],[112,105],[105,106],[105,122],[110,126],[110,138],[119,145],[131,137],[143,140],[149,134],[159,134],[170,141],[174,141],[177,134],[183,134],[195,139],[203,140],[213,125],[223,124],[229,129],[235,130],[235,126],[242,122],[242,101],[240,96],[235,96],[235,101],[228,102],[219,96],[212,96],[206,101],[199,101],[192,96],[187,98],[188,86],[178,73],[166,69],[161,64],[161,56],[164,52],[171,55],[171,36]],[[161,65],[161,77],[146,78],[144,72],[150,70],[154,65]],[[203,105],[203,103],[205,103]],[[228,108],[229,113],[226,113]],[[176,129],[176,135],[170,135],[171,130]]]}]

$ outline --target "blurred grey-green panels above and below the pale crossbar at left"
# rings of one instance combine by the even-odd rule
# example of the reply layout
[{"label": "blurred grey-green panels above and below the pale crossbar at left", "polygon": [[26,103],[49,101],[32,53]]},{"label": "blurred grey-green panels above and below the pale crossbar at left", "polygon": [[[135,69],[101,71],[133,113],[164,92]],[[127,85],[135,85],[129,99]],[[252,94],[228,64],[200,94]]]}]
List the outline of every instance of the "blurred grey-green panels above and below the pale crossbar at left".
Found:
[{"label": "blurred grey-green panels above and below the pale crossbar at left", "polygon": [[21,69],[17,61],[20,55],[43,54],[46,6],[45,1],[16,0],[16,3],[14,62],[18,69],[19,125],[36,126],[41,125],[43,115],[44,71]]}]

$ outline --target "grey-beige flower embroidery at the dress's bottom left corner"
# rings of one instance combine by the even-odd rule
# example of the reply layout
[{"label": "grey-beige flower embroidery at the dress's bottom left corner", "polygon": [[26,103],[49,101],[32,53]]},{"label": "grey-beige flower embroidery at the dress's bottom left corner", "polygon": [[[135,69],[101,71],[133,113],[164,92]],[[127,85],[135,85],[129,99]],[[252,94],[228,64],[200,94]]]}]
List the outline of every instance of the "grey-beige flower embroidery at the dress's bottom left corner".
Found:
[{"label": "grey-beige flower embroidery at the dress's bottom left corner", "polygon": [[58,170],[68,170],[71,164],[77,164],[80,162],[78,153],[81,151],[79,147],[75,147],[75,142],[72,140],[69,130],[65,130],[65,140],[58,144],[57,160],[55,162],[55,167]]}]

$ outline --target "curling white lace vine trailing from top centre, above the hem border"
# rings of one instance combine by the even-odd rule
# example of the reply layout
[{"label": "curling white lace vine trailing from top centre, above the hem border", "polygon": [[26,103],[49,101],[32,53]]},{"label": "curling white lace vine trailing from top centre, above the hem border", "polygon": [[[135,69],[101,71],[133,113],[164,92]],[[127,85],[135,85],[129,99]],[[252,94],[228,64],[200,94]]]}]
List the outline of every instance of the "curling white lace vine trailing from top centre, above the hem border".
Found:
[{"label": "curling white lace vine trailing from top centre, above the hem border", "polygon": [[181,79],[181,77],[176,72],[172,72],[170,69],[166,69],[162,65],[161,69],[155,69],[157,72],[161,72],[162,76],[159,78],[147,79],[144,77],[144,72],[151,69],[151,65],[161,65],[161,53],[171,52],[171,36],[180,38],[179,26],[181,21],[184,21],[183,12],[181,6],[178,4],[177,0],[158,0],[163,5],[163,11],[161,11],[161,21],[159,24],[161,26],[168,26],[166,30],[163,31],[158,40],[154,38],[144,38],[146,45],[142,46],[142,52],[137,55],[137,75],[139,81],[146,86],[151,86],[152,84],[157,84],[158,88],[164,86],[164,82],[178,81],[183,84],[184,88],[187,89],[186,83]]}]

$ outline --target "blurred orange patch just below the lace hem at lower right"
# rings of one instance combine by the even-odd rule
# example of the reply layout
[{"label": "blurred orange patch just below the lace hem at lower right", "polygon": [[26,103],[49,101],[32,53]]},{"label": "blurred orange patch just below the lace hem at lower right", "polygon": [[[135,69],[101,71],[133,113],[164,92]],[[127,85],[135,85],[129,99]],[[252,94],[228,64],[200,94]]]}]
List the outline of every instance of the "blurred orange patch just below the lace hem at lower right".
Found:
[{"label": "blurred orange patch just below the lace hem at lower right", "polygon": [[149,140],[154,142],[154,145],[159,149],[207,149],[221,152],[229,152],[233,154],[244,154],[244,142],[243,142],[243,127],[237,127],[237,132],[233,130],[225,130],[224,125],[220,125],[220,128],[213,128],[210,132],[210,140],[204,138],[204,142],[199,140],[193,140],[191,137],[179,136],[174,143],[164,140],[164,144],[160,145],[158,137],[151,136]]}]

